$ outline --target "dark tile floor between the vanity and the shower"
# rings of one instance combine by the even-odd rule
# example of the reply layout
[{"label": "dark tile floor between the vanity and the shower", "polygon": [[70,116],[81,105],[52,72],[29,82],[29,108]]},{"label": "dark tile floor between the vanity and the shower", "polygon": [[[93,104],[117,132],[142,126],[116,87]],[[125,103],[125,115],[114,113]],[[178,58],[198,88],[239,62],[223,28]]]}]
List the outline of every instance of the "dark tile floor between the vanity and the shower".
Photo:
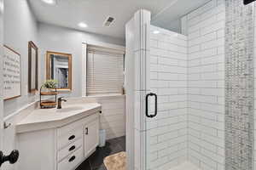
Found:
[{"label": "dark tile floor between the vanity and the shower", "polygon": [[120,151],[125,151],[125,136],[117,139],[110,139],[106,146],[97,148],[87,160],[85,160],[76,170],[107,170],[103,160]]}]

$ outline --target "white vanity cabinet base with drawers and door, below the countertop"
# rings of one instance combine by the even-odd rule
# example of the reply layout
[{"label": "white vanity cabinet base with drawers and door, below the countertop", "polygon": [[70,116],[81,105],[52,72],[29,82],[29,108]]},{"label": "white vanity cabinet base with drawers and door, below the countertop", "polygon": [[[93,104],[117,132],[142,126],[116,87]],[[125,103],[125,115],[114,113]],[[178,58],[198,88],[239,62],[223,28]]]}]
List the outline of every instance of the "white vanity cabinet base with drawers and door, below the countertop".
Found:
[{"label": "white vanity cabinet base with drawers and door, below the countertop", "polygon": [[17,138],[19,170],[74,170],[96,150],[99,112],[61,127],[18,133]]}]

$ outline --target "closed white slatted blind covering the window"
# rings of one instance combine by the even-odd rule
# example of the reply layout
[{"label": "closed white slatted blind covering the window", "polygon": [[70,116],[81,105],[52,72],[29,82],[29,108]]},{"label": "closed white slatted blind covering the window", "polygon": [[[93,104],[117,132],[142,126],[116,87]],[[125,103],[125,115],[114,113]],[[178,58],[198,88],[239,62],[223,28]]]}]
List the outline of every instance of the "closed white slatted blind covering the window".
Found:
[{"label": "closed white slatted blind covering the window", "polygon": [[122,94],[124,53],[96,46],[87,47],[87,95]]}]

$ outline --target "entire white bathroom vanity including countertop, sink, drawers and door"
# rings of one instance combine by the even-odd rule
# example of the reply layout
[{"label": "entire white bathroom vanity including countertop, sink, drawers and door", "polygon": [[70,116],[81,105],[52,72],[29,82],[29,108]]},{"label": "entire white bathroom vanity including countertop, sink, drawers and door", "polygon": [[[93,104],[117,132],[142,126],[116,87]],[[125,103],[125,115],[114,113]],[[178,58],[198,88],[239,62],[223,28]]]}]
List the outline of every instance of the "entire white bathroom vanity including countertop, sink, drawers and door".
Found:
[{"label": "entire white bathroom vanity including countertop, sink, drawers and door", "polygon": [[35,110],[16,126],[20,170],[73,170],[99,141],[101,105]]}]

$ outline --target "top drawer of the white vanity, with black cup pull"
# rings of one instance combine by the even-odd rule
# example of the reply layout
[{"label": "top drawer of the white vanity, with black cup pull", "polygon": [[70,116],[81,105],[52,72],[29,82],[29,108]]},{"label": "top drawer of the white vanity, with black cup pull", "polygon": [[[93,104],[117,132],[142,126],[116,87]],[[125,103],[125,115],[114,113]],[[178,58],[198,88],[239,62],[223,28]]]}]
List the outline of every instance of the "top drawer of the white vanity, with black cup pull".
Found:
[{"label": "top drawer of the white vanity, with black cup pull", "polygon": [[83,128],[78,127],[58,137],[58,150],[63,149],[68,144],[73,144],[74,141],[82,139]]}]

